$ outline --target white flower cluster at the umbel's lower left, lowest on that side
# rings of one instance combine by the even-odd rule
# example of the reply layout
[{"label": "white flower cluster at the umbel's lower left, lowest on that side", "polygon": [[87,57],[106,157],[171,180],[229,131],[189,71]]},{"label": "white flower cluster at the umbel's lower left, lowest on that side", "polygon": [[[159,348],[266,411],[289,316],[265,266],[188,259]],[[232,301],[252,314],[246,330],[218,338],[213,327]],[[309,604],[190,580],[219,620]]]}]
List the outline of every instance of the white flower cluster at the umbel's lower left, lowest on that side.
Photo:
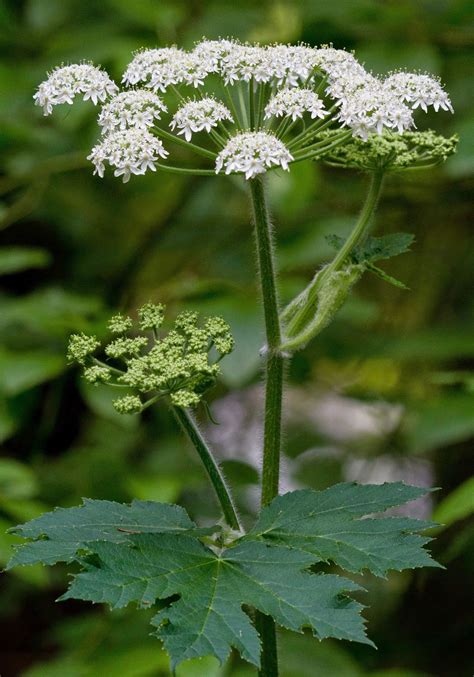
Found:
[{"label": "white flower cluster at the umbel's lower left, lowest on that side", "polygon": [[131,128],[111,132],[92,149],[88,160],[95,166],[94,174],[104,176],[105,162],[115,167],[114,176],[122,176],[126,183],[131,174],[144,174],[147,169],[156,170],[158,158],[165,158],[168,151],[147,130]]}]

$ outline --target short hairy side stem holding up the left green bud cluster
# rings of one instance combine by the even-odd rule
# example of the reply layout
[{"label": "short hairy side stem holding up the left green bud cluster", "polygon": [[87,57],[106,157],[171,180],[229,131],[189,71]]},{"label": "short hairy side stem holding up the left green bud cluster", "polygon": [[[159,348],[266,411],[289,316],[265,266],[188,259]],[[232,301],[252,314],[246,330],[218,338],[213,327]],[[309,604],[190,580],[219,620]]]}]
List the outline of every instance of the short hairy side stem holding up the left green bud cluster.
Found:
[{"label": "short hairy side stem holding up the left green bud cluster", "polygon": [[171,409],[176,420],[191,440],[199,454],[201,461],[203,462],[206,472],[209,475],[209,479],[212,482],[212,486],[214,487],[214,490],[217,494],[217,499],[220,503],[227,524],[232,527],[232,529],[237,529],[240,531],[241,526],[239,517],[237,515],[237,510],[234,506],[234,501],[232,500],[230,490],[226,484],[222,471],[212,454],[212,451],[210,450],[206,440],[202,436],[196,424],[196,421],[186,409],[181,409],[180,407],[172,407]]}]

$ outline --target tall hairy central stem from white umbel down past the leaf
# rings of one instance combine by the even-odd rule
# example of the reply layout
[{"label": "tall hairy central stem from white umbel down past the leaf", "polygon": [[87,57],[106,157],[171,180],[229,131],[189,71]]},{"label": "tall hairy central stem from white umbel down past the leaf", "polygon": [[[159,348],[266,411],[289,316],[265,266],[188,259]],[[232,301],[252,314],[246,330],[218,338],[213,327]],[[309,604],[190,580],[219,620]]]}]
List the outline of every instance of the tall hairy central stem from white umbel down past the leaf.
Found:
[{"label": "tall hairy central stem from white umbel down past the leaf", "polygon": [[[276,288],[271,224],[261,177],[249,181],[255,221],[258,272],[266,331],[265,427],[263,435],[262,507],[278,495],[281,449],[283,356]],[[277,677],[275,622],[257,611],[256,626],[262,641],[260,677]]]}]

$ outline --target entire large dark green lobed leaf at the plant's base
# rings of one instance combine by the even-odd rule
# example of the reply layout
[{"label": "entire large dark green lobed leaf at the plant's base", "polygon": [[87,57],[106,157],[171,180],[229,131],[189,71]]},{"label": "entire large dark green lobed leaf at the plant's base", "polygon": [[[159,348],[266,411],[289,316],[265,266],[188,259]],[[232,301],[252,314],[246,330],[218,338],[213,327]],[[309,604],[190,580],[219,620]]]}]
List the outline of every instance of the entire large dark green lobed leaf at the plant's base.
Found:
[{"label": "entire large dark green lobed leaf at the plant's base", "polygon": [[295,491],[264,508],[254,528],[226,548],[207,547],[178,506],[135,501],[85,501],[17,527],[37,539],[22,546],[10,567],[36,561],[77,560],[82,571],[61,599],[103,602],[113,608],[160,601],[152,620],[172,664],[232,647],[259,665],[260,640],[243,606],[285,628],[309,627],[319,639],[370,643],[360,590],[337,575],[309,571],[331,561],[349,571],[436,566],[415,532],[430,524],[401,517],[368,517],[419,498],[425,489],[401,483],[339,484]]}]

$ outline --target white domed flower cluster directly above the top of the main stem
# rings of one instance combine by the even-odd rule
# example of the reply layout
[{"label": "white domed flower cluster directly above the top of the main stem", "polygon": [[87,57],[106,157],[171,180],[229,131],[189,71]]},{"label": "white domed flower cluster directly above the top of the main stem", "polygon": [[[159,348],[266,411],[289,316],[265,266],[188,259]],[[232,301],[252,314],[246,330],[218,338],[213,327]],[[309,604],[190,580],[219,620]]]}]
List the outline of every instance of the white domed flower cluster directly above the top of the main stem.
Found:
[{"label": "white domed flower cluster directly above the top of the main stem", "polygon": [[234,136],[216,159],[216,174],[222,170],[244,173],[246,179],[263,174],[270,167],[288,169],[293,160],[285,144],[268,132],[244,132]]}]

